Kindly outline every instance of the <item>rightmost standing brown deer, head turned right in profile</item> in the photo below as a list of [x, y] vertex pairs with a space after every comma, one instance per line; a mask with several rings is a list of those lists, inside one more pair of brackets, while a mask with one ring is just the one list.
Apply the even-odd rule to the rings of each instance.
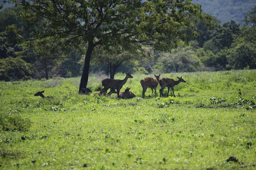
[[159, 90], [160, 92], [160, 97], [163, 97], [163, 89], [165, 89], [165, 87], [167, 86], [168, 87], [168, 92], [167, 92], [167, 97], [169, 95], [169, 90], [170, 90], [170, 87], [172, 88], [172, 92], [173, 92], [173, 96], [175, 97], [174, 95], [174, 90], [173, 90], [173, 87], [177, 84], [179, 84], [180, 82], [184, 82], [186, 83], [185, 80], [179, 77], [177, 77], [179, 80], [178, 81], [175, 81], [173, 79], [168, 79], [168, 78], [162, 78], [160, 81], [159, 81], [159, 84], [161, 86], [161, 89]]

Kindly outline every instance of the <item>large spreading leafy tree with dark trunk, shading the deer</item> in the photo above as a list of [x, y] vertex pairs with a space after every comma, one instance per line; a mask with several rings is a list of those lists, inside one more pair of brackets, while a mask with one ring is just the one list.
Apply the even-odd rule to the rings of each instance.
[[207, 25], [211, 24], [211, 16], [203, 14], [201, 5], [190, 0], [9, 1], [23, 6], [21, 17], [36, 26], [30, 34], [32, 39], [51, 38], [61, 42], [59, 46], [64, 49], [86, 47], [79, 92], [87, 86], [91, 54], [96, 46], [130, 53], [139, 50], [143, 54], [149, 49], [145, 46], [171, 51], [178, 41], [197, 35], [192, 20], [207, 19]]

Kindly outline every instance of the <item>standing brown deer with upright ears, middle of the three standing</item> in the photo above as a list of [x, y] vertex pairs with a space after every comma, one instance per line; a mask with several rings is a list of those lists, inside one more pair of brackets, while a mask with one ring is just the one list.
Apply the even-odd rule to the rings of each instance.
[[[155, 75], [155, 74], [154, 74]], [[157, 85], [158, 85], [158, 82], [159, 82], [159, 77], [160, 77], [161, 74], [159, 75], [155, 75], [156, 79], [153, 79], [151, 77], [146, 77], [146, 78], [143, 78], [141, 81], [140, 81], [140, 84], [143, 88], [142, 90], [142, 98], [145, 97], [145, 92], [147, 90], [147, 88], [151, 88], [152, 90], [152, 94], [153, 94], [153, 89], [155, 89], [155, 95], [156, 95], [156, 88], [157, 88]], [[152, 96], [151, 94], [151, 96]]]

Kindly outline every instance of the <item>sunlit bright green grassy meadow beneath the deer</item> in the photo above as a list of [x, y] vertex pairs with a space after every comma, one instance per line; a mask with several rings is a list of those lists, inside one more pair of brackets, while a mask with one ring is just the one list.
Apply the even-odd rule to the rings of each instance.
[[186, 83], [145, 99], [140, 80], [154, 74], [132, 75], [126, 100], [94, 97], [104, 75], [87, 96], [80, 78], [0, 82], [0, 169], [256, 168], [256, 70], [161, 73]]

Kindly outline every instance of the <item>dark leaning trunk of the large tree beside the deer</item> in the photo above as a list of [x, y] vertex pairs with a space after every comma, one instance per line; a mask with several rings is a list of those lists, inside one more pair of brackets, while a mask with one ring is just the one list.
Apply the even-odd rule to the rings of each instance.
[[83, 69], [83, 73], [82, 73], [82, 77], [81, 77], [81, 81], [80, 81], [79, 94], [86, 93], [85, 89], [86, 89], [87, 82], [88, 82], [91, 53], [93, 52], [94, 47], [95, 46], [93, 44], [93, 41], [89, 41], [85, 59], [84, 59], [84, 69]]

